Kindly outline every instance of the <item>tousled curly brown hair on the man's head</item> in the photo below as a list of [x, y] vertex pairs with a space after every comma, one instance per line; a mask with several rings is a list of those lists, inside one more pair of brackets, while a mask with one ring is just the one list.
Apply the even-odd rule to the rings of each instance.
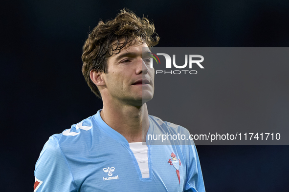
[[[153, 37], [154, 36], [154, 37]], [[108, 73], [107, 59], [118, 54], [121, 49], [133, 45], [136, 40], [155, 46], [159, 37], [155, 26], [148, 19], [137, 17], [132, 11], [121, 9], [115, 19], [107, 22], [99, 21], [89, 34], [83, 46], [82, 73], [91, 91], [101, 98], [97, 86], [90, 79], [90, 71]], [[120, 41], [123, 41], [120, 43]]]

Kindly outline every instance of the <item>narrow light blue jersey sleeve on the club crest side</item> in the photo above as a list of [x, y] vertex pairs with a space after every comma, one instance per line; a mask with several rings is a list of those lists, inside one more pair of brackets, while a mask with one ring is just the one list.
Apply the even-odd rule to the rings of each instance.
[[192, 142], [192, 145], [186, 146], [189, 150], [188, 155], [188, 170], [187, 179], [185, 184], [185, 192], [205, 192], [205, 186], [203, 176], [200, 168], [200, 160], [196, 146]]

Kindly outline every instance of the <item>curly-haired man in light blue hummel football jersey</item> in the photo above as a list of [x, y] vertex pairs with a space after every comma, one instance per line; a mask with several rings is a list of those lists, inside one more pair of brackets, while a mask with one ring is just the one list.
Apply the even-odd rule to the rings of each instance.
[[153, 24], [126, 10], [93, 29], [82, 71], [103, 109], [49, 138], [35, 166], [34, 191], [205, 191], [194, 145], [154, 145], [147, 137], [189, 135], [148, 115], [155, 73], [149, 48], [158, 40]]

